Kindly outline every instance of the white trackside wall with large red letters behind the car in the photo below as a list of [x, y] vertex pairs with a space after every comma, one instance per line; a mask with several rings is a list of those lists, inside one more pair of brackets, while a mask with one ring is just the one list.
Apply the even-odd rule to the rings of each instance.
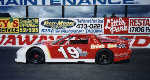
[[[56, 41], [66, 35], [0, 35], [0, 46], [13, 46], [21, 47], [26, 45], [33, 45], [43, 41]], [[131, 48], [150, 48], [150, 36], [149, 35], [102, 35], [108, 37], [123, 36], [130, 39]]]

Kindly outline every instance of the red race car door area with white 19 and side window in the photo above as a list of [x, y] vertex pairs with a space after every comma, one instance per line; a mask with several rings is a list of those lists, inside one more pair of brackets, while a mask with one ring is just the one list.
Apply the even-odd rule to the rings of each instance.
[[87, 59], [90, 57], [90, 45], [88, 37], [70, 37], [60, 43], [58, 52], [65, 59]]

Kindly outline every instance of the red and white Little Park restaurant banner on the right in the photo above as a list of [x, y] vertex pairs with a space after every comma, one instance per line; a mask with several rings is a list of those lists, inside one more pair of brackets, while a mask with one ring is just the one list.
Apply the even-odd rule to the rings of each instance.
[[104, 34], [150, 34], [150, 18], [105, 18]]

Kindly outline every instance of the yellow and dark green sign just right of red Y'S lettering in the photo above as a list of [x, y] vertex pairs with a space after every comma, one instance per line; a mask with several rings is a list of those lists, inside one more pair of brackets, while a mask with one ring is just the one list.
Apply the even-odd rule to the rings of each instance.
[[20, 18], [19, 33], [38, 33], [39, 19], [38, 18]]

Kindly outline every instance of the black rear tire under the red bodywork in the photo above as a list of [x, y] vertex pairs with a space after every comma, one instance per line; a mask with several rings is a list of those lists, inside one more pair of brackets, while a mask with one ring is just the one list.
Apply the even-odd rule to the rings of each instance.
[[95, 62], [100, 65], [113, 63], [113, 54], [110, 51], [100, 51], [96, 54]]

